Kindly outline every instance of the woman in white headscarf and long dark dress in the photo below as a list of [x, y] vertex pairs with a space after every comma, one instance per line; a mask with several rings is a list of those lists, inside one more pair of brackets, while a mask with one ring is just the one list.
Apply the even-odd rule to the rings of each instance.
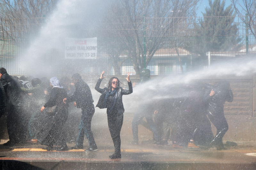
[[[60, 145], [57, 151], [67, 151], [66, 135], [64, 125], [68, 118], [68, 104], [63, 103], [67, 97], [66, 90], [60, 85], [57, 77], [50, 79], [50, 98], [41, 107], [41, 116], [38, 117], [38, 128], [35, 134], [36, 139], [46, 145], [47, 151], [53, 150], [53, 145]], [[45, 112], [44, 109], [48, 108]]]

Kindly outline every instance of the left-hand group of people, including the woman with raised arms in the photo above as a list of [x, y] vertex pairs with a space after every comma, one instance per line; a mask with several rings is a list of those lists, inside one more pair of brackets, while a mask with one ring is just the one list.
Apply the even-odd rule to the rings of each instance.
[[[9, 141], [4, 145], [10, 146], [21, 144], [31, 139], [46, 145], [47, 151], [52, 151], [55, 146], [60, 146], [57, 151], [69, 150], [66, 144], [64, 124], [68, 118], [68, 103], [74, 102], [75, 107], [81, 108], [82, 115], [79, 124], [76, 145], [71, 149], [83, 149], [84, 135], [86, 135], [89, 148], [86, 152], [96, 151], [91, 121], [95, 112], [92, 93], [89, 86], [84, 82], [81, 75], [73, 74], [72, 82], [75, 90], [68, 95], [65, 83], [60, 83], [57, 77], [52, 77], [47, 83], [45, 79], [34, 78], [29, 81], [10, 76], [5, 68], [0, 68], [0, 111], [6, 115]], [[129, 74], [128, 90], [120, 87], [120, 81], [116, 77], [110, 78], [108, 87], [100, 88], [104, 77], [104, 71], [95, 86], [95, 90], [101, 93], [96, 105], [99, 108], [107, 108], [108, 128], [113, 139], [115, 152], [110, 159], [121, 158], [120, 131], [123, 124], [124, 106], [122, 96], [132, 93], [132, 83]], [[29, 96], [33, 100], [29, 100]], [[44, 102], [43, 106], [42, 101]], [[31, 108], [37, 108], [31, 110]], [[41, 109], [40, 109], [41, 107]]]

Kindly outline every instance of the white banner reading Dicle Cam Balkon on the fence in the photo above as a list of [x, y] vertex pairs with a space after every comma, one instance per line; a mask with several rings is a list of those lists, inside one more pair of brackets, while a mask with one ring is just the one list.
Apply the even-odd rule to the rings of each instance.
[[65, 41], [66, 59], [96, 59], [97, 37], [68, 38]]

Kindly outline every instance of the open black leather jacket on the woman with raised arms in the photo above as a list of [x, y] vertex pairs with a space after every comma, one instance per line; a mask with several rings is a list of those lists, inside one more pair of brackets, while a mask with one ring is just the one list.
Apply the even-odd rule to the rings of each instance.
[[[97, 84], [95, 85], [95, 90], [97, 90], [97, 92], [101, 93], [100, 99], [99, 99], [96, 107], [104, 108], [105, 94], [108, 92], [109, 89], [107, 87], [105, 87], [104, 89], [101, 89], [100, 88], [101, 81], [102, 81], [102, 79], [99, 78]], [[124, 90], [122, 87], [118, 88], [116, 105], [115, 105], [115, 108], [117, 109], [118, 113], [124, 113], [124, 105], [123, 105], [122, 96], [132, 93], [132, 82], [128, 82], [128, 86], [129, 86], [129, 90]]]

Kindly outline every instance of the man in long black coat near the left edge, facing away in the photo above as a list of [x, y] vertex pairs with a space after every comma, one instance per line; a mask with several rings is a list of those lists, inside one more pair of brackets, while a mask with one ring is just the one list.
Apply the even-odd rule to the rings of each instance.
[[6, 96], [6, 123], [9, 141], [4, 145], [25, 143], [28, 135], [26, 115], [22, 108], [24, 93], [15, 78], [10, 76], [6, 69], [0, 68], [0, 81]]

